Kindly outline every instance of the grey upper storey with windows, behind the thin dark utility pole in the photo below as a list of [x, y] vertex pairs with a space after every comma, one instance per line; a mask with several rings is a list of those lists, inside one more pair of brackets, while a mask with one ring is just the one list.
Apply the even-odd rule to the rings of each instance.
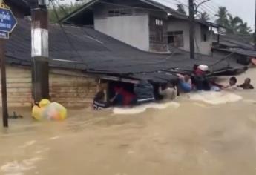
[[[186, 51], [190, 50], [189, 23], [187, 16], [168, 16], [168, 45]], [[212, 25], [195, 19], [194, 27], [195, 53], [211, 55], [213, 42]]]

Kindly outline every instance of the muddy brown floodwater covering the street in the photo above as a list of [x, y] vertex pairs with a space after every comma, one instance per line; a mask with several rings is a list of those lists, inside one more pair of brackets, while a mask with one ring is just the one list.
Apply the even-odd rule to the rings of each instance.
[[[247, 76], [256, 84], [256, 70]], [[256, 91], [195, 93], [134, 109], [26, 116], [0, 128], [3, 175], [255, 175]], [[13, 109], [10, 109], [10, 112]]]

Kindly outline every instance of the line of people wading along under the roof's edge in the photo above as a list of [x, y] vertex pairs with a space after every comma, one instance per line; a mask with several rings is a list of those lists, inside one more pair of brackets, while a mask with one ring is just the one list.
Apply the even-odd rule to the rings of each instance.
[[[180, 93], [190, 93], [196, 90], [208, 91], [221, 91], [226, 89], [243, 88], [254, 89], [251, 85], [251, 79], [245, 79], [242, 85], [237, 85], [237, 79], [233, 76], [229, 79], [229, 85], [218, 85], [213, 80], [206, 78], [208, 67], [200, 65], [194, 67], [194, 73], [189, 76], [188, 74], [177, 74], [176, 82], [167, 82], [163, 85], [157, 85], [157, 90], [147, 80], [141, 80], [138, 84], [134, 85], [133, 92], [125, 90], [124, 87], [114, 87], [114, 96], [106, 100], [106, 94], [103, 89], [96, 93], [93, 99], [93, 108], [100, 110], [108, 108], [112, 105], [118, 106], [131, 106], [141, 105], [148, 102], [154, 102], [156, 96], [163, 101], [174, 100]], [[156, 85], [155, 85], [156, 86]]]

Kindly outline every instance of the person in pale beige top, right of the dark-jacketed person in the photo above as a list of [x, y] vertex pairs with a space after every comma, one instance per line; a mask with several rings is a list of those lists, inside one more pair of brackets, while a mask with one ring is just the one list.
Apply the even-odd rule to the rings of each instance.
[[174, 100], [177, 96], [176, 87], [168, 82], [165, 87], [159, 87], [159, 94], [163, 96], [164, 101]]

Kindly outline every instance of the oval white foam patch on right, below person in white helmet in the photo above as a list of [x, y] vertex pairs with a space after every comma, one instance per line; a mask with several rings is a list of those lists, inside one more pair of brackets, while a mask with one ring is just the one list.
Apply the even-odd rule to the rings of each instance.
[[243, 99], [234, 93], [229, 92], [197, 92], [189, 94], [189, 98], [195, 101], [201, 101], [210, 105], [220, 105], [230, 102], [238, 102]]

